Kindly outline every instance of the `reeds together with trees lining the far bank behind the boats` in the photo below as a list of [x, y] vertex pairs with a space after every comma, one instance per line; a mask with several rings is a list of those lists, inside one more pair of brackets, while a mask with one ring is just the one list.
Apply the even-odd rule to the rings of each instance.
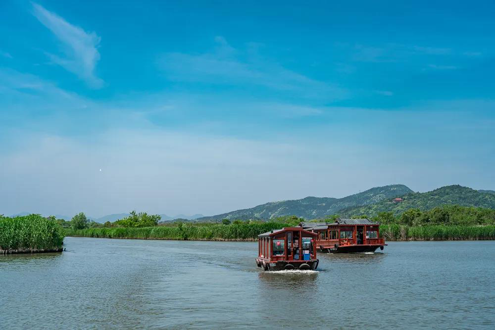
[[[313, 221], [334, 222], [338, 215]], [[361, 215], [360, 217], [366, 217]], [[149, 222], [146, 219], [152, 219]], [[396, 216], [380, 212], [373, 221], [381, 223], [381, 236], [387, 240], [461, 240], [495, 239], [495, 210], [442, 206], [428, 211], [409, 209]], [[182, 239], [182, 240], [255, 240], [261, 233], [283, 227], [297, 226], [303, 218], [284, 216], [263, 222], [259, 220], [230, 220], [207, 222], [158, 223], [155, 216], [131, 213], [131, 216], [104, 228], [69, 229], [67, 236]], [[149, 225], [148, 225], [149, 224]]]

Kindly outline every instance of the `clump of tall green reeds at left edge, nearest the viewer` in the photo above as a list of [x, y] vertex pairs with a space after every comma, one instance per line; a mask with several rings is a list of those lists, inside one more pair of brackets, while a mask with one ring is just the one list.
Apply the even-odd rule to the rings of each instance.
[[61, 248], [64, 236], [62, 226], [39, 214], [15, 218], [0, 216], [0, 250]]

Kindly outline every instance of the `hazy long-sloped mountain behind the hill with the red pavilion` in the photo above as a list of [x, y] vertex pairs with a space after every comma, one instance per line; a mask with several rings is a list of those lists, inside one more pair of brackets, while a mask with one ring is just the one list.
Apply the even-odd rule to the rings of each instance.
[[369, 205], [383, 199], [402, 196], [412, 190], [404, 185], [376, 187], [343, 198], [306, 197], [258, 205], [252, 208], [198, 218], [198, 221], [216, 221], [222, 219], [272, 219], [285, 215], [296, 215], [305, 219], [321, 218], [335, 214], [343, 208], [357, 205]]

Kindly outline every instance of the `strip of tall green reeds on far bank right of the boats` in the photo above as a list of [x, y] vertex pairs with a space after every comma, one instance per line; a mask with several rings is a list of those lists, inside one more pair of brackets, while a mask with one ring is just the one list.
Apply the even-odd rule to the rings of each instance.
[[469, 240], [495, 239], [495, 226], [403, 226], [381, 225], [385, 240]]

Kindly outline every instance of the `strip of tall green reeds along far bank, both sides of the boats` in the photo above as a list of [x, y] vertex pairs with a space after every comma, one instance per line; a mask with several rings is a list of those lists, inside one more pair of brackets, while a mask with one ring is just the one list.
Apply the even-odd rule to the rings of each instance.
[[[160, 226], [145, 228], [90, 228], [67, 230], [67, 236], [179, 240], [256, 240], [261, 233], [290, 227], [277, 222], [232, 225]], [[418, 226], [382, 225], [380, 233], [386, 240], [470, 240], [495, 239], [495, 226]]]

